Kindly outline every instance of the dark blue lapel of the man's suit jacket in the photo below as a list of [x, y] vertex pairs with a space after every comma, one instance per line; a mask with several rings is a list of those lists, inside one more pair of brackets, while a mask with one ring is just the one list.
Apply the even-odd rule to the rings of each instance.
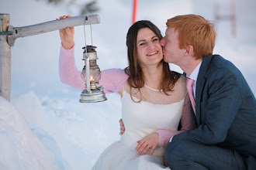
[[202, 64], [199, 69], [199, 75], [196, 80], [195, 87], [195, 112], [196, 112], [196, 124], [199, 126], [201, 124], [201, 99], [202, 99], [202, 90], [206, 82], [205, 74], [209, 68], [209, 63], [212, 60], [213, 55], [206, 56], [202, 59]]

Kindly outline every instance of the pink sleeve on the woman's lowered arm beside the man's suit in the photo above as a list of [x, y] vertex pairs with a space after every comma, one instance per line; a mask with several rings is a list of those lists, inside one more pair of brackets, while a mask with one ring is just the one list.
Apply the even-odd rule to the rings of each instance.
[[180, 134], [183, 131], [194, 128], [190, 111], [191, 111], [191, 107], [190, 107], [189, 97], [185, 97], [185, 102], [184, 102], [183, 111], [182, 111], [182, 118], [181, 118], [182, 130], [171, 131], [167, 129], [160, 129], [155, 131], [157, 134], [159, 134], [159, 141], [160, 141], [159, 145], [166, 147], [171, 137], [175, 136], [176, 134]]

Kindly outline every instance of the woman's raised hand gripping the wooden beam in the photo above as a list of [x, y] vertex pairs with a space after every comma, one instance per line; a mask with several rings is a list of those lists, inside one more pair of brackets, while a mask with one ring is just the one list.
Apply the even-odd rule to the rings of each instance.
[[[59, 19], [70, 18], [71, 15], [60, 16]], [[62, 46], [64, 49], [71, 49], [74, 46], [74, 27], [59, 29]]]

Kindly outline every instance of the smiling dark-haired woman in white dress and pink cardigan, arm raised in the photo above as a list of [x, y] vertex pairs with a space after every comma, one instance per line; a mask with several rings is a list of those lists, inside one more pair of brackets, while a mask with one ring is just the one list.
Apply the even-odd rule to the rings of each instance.
[[[84, 89], [74, 64], [74, 28], [61, 29], [60, 36], [61, 81]], [[172, 136], [192, 128], [185, 77], [164, 62], [161, 38], [153, 23], [134, 23], [126, 36], [129, 66], [102, 71], [99, 85], [106, 93], [121, 96], [126, 131], [102, 152], [92, 169], [169, 169], [164, 166], [165, 146]], [[182, 131], [178, 131], [180, 120]]]

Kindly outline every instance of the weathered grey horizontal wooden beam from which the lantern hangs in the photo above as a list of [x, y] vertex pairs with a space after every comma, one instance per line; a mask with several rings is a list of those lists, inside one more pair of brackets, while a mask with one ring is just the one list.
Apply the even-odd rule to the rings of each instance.
[[64, 29], [73, 26], [83, 26], [98, 24], [100, 22], [99, 15], [79, 15], [67, 19], [57, 19], [50, 22], [43, 22], [33, 26], [13, 27], [9, 26], [9, 31], [14, 32], [12, 36], [8, 36], [10, 46], [14, 46], [14, 42], [19, 37], [34, 36], [37, 34]]

